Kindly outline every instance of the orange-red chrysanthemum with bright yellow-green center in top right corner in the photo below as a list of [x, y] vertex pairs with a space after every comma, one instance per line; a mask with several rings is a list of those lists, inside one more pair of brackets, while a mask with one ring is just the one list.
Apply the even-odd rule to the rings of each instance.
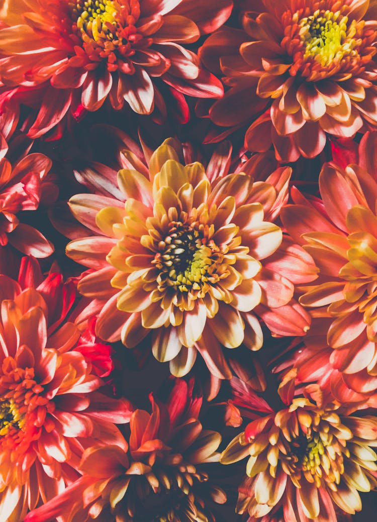
[[273, 144], [283, 161], [317, 156], [326, 134], [376, 125], [375, 0], [243, 4], [244, 31], [220, 29], [200, 53], [230, 87], [210, 110], [214, 123], [251, 123], [246, 146]]

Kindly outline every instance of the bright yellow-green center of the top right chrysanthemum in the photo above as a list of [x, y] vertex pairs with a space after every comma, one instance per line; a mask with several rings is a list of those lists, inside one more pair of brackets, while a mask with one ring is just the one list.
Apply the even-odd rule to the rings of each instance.
[[313, 57], [321, 66], [330, 65], [334, 60], [340, 61], [351, 55], [357, 41], [356, 22], [352, 20], [347, 27], [347, 16], [340, 15], [339, 11], [319, 10], [300, 20], [300, 36], [305, 44], [303, 58]]

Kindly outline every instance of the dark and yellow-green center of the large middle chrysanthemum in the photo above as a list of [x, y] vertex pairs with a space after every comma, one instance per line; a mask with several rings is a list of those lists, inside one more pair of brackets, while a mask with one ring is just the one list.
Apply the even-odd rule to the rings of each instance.
[[171, 223], [169, 235], [159, 243], [159, 248], [153, 263], [160, 270], [160, 281], [168, 287], [189, 292], [218, 280], [214, 274], [217, 246], [190, 225]]

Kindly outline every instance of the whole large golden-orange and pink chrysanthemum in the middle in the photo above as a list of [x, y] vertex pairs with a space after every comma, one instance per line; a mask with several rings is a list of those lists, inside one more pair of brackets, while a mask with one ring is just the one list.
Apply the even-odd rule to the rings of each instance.
[[170, 361], [174, 375], [189, 372], [199, 351], [214, 375], [229, 378], [221, 345], [262, 346], [257, 306], [275, 334], [305, 334], [309, 316], [292, 299], [287, 277], [312, 281], [316, 270], [264, 220], [278, 213], [290, 169], [271, 175], [278, 192], [244, 173], [216, 177], [218, 156], [206, 175], [198, 162], [182, 165], [181, 154], [166, 140], [147, 168], [126, 151], [132, 168], [118, 172], [119, 187], [110, 169], [105, 179], [84, 171], [107, 196], [70, 199], [74, 216], [96, 235], [69, 243], [67, 255], [93, 269], [78, 289], [101, 310], [102, 339], [132, 348], [151, 332], [155, 358]]

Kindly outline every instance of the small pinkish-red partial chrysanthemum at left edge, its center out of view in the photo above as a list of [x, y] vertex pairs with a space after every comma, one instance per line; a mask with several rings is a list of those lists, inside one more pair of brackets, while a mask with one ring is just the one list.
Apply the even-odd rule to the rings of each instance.
[[51, 165], [52, 161], [38, 152], [13, 166], [6, 158], [0, 159], [0, 248], [9, 243], [35, 257], [54, 252], [52, 243], [39, 230], [17, 218], [21, 210], [37, 210], [41, 199], [56, 199], [57, 187], [48, 180]]

